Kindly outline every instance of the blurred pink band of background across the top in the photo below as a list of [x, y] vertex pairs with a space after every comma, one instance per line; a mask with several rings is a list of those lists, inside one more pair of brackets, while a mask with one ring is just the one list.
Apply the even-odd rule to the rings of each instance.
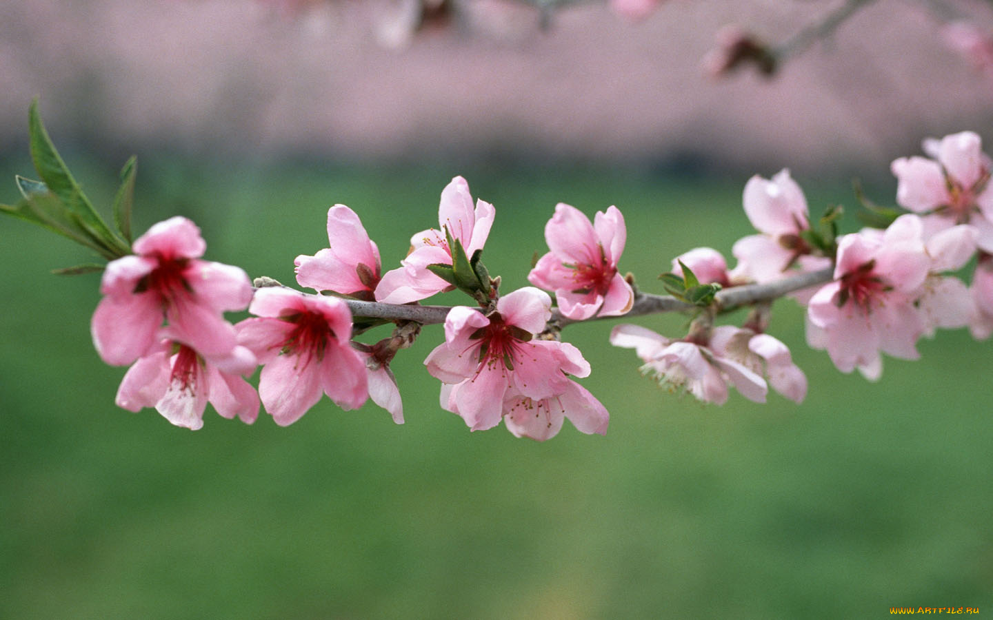
[[[949, 4], [993, 23], [989, 3]], [[775, 42], [838, 5], [669, 0], [636, 23], [591, 3], [541, 30], [522, 3], [464, 0], [447, 28], [405, 41], [385, 1], [13, 0], [0, 144], [23, 146], [35, 95], [54, 134], [125, 150], [690, 156], [769, 172], [887, 166], [962, 129], [993, 140], [989, 77], [920, 3], [869, 5], [774, 79], [701, 68], [725, 24]]]

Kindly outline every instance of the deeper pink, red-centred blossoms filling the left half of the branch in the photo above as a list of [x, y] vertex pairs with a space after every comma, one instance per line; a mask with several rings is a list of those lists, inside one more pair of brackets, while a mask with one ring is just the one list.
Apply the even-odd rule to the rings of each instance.
[[[389, 363], [419, 326], [396, 321], [391, 337], [354, 342], [346, 299], [412, 304], [456, 288], [460, 259], [474, 256], [479, 264], [495, 215], [492, 204], [473, 203], [464, 179], [454, 179], [441, 194], [439, 227], [413, 235], [401, 266], [382, 273], [379, 250], [358, 216], [337, 204], [328, 211], [329, 247], [295, 260], [297, 283], [318, 295], [282, 286], [253, 289], [240, 269], [200, 259], [206, 244], [193, 222], [160, 222], [134, 242], [134, 255], [107, 265], [105, 297], [93, 314], [100, 357], [133, 363], [117, 404], [132, 411], [154, 407], [177, 426], [199, 429], [208, 402], [222, 416], [247, 423], [261, 402], [286, 426], [326, 394], [343, 409], [371, 398], [403, 424]], [[591, 224], [560, 204], [546, 237], [552, 251], [530, 279], [559, 292], [565, 315], [582, 319], [632, 307], [634, 291], [617, 273], [626, 231], [616, 207]], [[466, 290], [464, 281], [456, 282]], [[570, 378], [588, 376], [590, 364], [576, 347], [543, 336], [551, 318], [548, 294], [526, 287], [500, 296], [498, 280], [488, 275], [475, 285], [467, 292], [478, 307], [449, 310], [445, 342], [425, 360], [442, 381], [442, 407], [474, 431], [505, 420], [511, 433], [543, 440], [569, 418], [583, 433], [606, 433], [607, 410]], [[233, 325], [223, 318], [237, 310], [254, 316]], [[256, 393], [243, 377], [258, 365]]]

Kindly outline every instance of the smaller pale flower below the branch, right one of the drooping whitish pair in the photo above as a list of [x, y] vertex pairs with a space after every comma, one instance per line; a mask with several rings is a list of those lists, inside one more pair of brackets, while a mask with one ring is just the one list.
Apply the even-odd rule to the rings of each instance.
[[778, 338], [734, 325], [721, 325], [714, 327], [711, 333], [710, 348], [721, 357], [765, 376], [774, 390], [794, 403], [802, 403], [806, 397], [806, 375], [793, 363], [789, 349]]

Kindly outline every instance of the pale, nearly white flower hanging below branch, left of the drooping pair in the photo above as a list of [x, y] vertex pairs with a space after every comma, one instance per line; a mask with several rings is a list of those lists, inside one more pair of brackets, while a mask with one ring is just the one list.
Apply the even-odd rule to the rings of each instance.
[[723, 405], [731, 383], [750, 401], [766, 402], [769, 387], [765, 379], [706, 344], [671, 340], [651, 329], [629, 324], [611, 330], [611, 344], [635, 349], [644, 361], [641, 372], [654, 375], [670, 391], [685, 389], [703, 402]]

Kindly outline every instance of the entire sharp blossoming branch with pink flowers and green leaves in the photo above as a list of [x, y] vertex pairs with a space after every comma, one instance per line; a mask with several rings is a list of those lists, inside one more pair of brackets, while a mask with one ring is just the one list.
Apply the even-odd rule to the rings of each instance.
[[[887, 217], [883, 227], [843, 236], [838, 209], [811, 222], [787, 171], [754, 177], [743, 203], [758, 234], [734, 244], [735, 268], [717, 250], [692, 249], [660, 276], [671, 294], [663, 297], [637, 292], [634, 277], [619, 272], [627, 227], [616, 206], [591, 221], [564, 203], [545, 225], [549, 251], [527, 275], [534, 286], [501, 295], [500, 278], [482, 262], [496, 209], [474, 202], [459, 177], [441, 193], [438, 228], [414, 234], [396, 269], [383, 273], [358, 216], [336, 204], [328, 211], [329, 247], [295, 260], [297, 283], [315, 293], [264, 278], [253, 287], [241, 269], [202, 259], [206, 243], [184, 217], [155, 224], [128, 247], [133, 169], [115, 199], [116, 236], [65, 170], [35, 108], [32, 131], [33, 156], [49, 164], [39, 167], [43, 181], [19, 179], [24, 199], [0, 210], [58, 225], [113, 259], [91, 332], [106, 363], [130, 365], [116, 403], [153, 407], [189, 429], [203, 426], [208, 403], [249, 424], [264, 407], [276, 424], [290, 425], [322, 394], [343, 409], [371, 399], [403, 424], [390, 362], [428, 323], [444, 323], [444, 342], [424, 360], [441, 382], [441, 407], [473, 431], [502, 421], [510, 433], [537, 440], [558, 434], [566, 418], [584, 434], [607, 431], [607, 410], [575, 380], [589, 376], [590, 363], [560, 339], [574, 321], [692, 311], [681, 338], [619, 324], [610, 341], [635, 349], [642, 372], [663, 386], [718, 404], [731, 386], [760, 403], [770, 387], [804, 399], [805, 375], [766, 333], [771, 304], [783, 295], [805, 307], [810, 346], [826, 349], [842, 372], [857, 369], [870, 380], [882, 373], [883, 353], [916, 359], [918, 340], [938, 327], [968, 326], [976, 338], [993, 333], [993, 162], [971, 132], [927, 140], [928, 157], [893, 162], [896, 201], [907, 212], [877, 209]], [[966, 285], [953, 274], [973, 260]], [[474, 304], [419, 305], [452, 290]], [[741, 325], [715, 324], [742, 306], [752, 311]], [[252, 316], [236, 324], [224, 318], [242, 310]], [[384, 323], [393, 324], [388, 337], [353, 339]], [[256, 390], [246, 377], [259, 366]]]

